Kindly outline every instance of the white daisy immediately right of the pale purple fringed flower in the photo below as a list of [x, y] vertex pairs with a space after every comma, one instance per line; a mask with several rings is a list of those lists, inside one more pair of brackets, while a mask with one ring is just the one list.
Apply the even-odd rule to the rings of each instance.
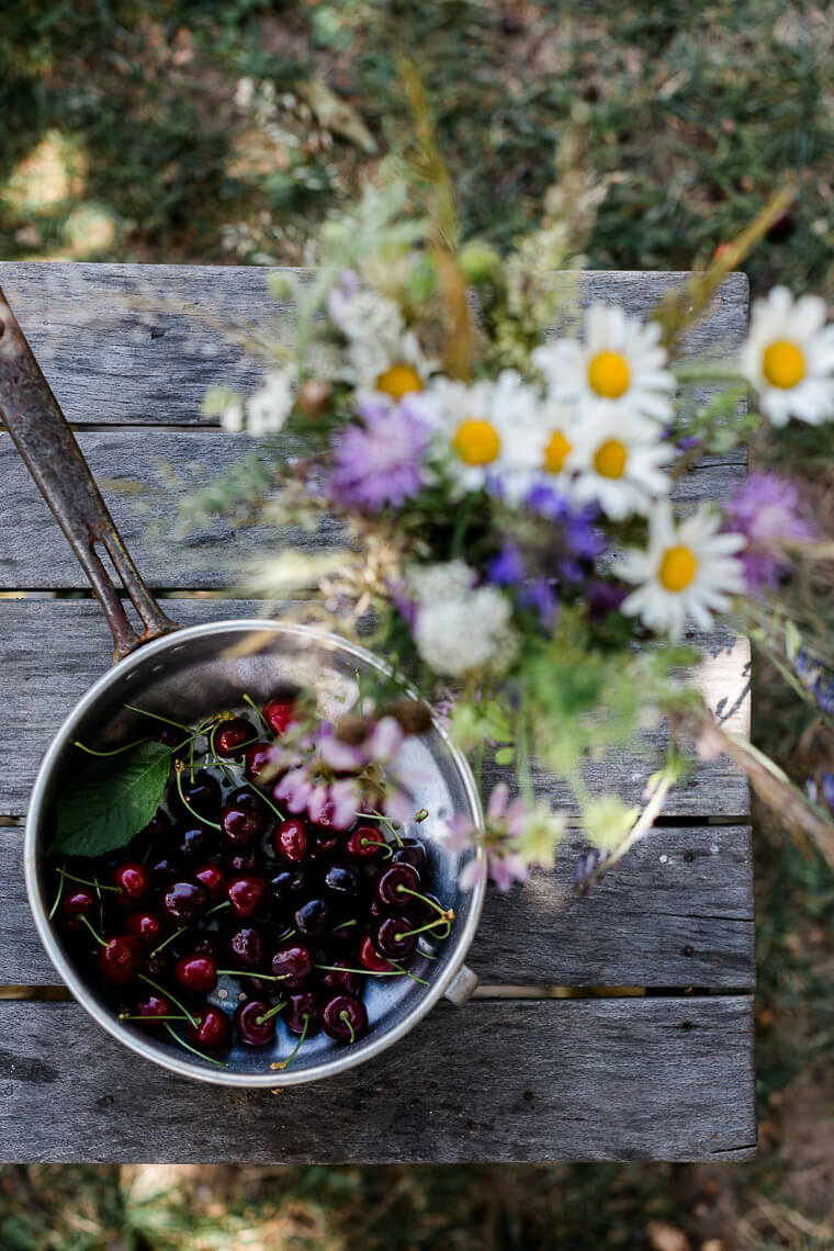
[[436, 455], [446, 462], [460, 492], [500, 483], [516, 498], [540, 460], [540, 402], [514, 369], [495, 382], [468, 385], [438, 378], [429, 388], [436, 403]]

